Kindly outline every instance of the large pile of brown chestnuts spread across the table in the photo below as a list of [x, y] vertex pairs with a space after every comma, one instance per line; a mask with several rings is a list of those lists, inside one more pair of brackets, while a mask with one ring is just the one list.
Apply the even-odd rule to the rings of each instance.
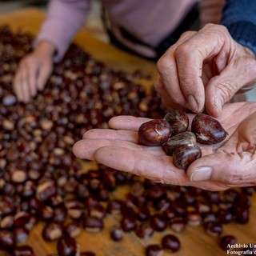
[[[108, 230], [115, 245], [134, 233], [146, 241], [146, 256], [182, 250], [179, 238], [186, 226], [203, 226], [223, 250], [235, 243], [234, 236], [223, 236], [224, 225], [249, 222], [253, 186], [220, 193], [158, 184], [102, 165], [85, 170], [74, 158], [74, 142], [86, 130], [106, 127], [114, 115], [164, 119], [158, 94], [146, 94], [135, 82], [150, 77], [109, 68], [71, 45], [46, 88], [23, 104], [12, 81], [33, 39], [22, 30], [14, 34], [0, 27], [0, 249], [12, 256], [38, 255], [30, 232], [40, 223], [43, 241], [55, 246], [47, 256], [95, 256], [97, 246], [92, 251], [77, 238], [106, 230], [110, 215], [117, 220]], [[178, 130], [186, 126], [183, 119], [172, 127], [171, 138], [186, 132]], [[126, 191], [122, 198], [120, 188]], [[155, 233], [162, 234], [158, 243], [150, 240]]]

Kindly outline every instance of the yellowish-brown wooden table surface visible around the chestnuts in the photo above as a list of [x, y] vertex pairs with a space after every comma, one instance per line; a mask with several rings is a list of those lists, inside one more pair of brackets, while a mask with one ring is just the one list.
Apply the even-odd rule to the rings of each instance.
[[[13, 30], [22, 28], [24, 31], [30, 31], [37, 34], [40, 24], [44, 19], [44, 14], [36, 9], [26, 9], [10, 14], [0, 16], [0, 24], [8, 24]], [[74, 42], [82, 46], [86, 51], [98, 59], [126, 72], [134, 70], [144, 70], [146, 74], [152, 74], [156, 77], [155, 65], [152, 62], [126, 54], [100, 42], [86, 31], [81, 31]], [[225, 226], [225, 234], [234, 234], [238, 238], [238, 244], [254, 243], [256, 245], [256, 203], [255, 196], [250, 210], [250, 222], [246, 225], [232, 223]], [[154, 242], [160, 242], [163, 234], [173, 234], [173, 231], [166, 230], [162, 233], [153, 235], [148, 240], [138, 239], [135, 234], [126, 234], [122, 242], [112, 242], [109, 236], [109, 227], [118, 223], [117, 219], [109, 216], [105, 220], [106, 228], [98, 234], [83, 232], [78, 238], [82, 250], [93, 250], [98, 256], [141, 256], [144, 255], [145, 246]], [[37, 256], [45, 256], [50, 253], [56, 253], [56, 242], [44, 242], [41, 238], [42, 225], [36, 226], [30, 234], [27, 242], [34, 247]], [[174, 255], [177, 256], [222, 256], [226, 251], [219, 249], [216, 238], [205, 234], [202, 226], [188, 226], [180, 234], [176, 234], [182, 242], [182, 249]], [[167, 253], [164, 256], [168, 255]]]

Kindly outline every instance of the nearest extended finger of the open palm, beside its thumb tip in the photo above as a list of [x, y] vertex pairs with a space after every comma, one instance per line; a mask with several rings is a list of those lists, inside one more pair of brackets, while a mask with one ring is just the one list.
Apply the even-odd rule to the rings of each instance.
[[185, 172], [175, 167], [171, 158], [167, 156], [159, 158], [142, 150], [106, 146], [95, 152], [95, 159], [116, 170], [140, 175], [156, 182], [174, 185], [186, 185], [189, 182]]

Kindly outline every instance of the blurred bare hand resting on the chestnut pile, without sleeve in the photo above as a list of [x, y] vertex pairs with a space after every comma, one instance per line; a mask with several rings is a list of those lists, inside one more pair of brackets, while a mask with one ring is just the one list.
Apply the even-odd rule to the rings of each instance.
[[27, 103], [43, 90], [53, 70], [53, 53], [54, 47], [44, 42], [22, 58], [13, 83], [18, 101]]

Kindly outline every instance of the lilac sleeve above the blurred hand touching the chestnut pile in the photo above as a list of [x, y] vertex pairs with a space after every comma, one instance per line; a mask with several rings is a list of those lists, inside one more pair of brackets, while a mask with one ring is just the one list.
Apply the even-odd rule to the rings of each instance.
[[57, 49], [54, 62], [59, 62], [81, 29], [89, 10], [90, 0], [51, 0], [34, 46], [41, 41], [53, 43]]

